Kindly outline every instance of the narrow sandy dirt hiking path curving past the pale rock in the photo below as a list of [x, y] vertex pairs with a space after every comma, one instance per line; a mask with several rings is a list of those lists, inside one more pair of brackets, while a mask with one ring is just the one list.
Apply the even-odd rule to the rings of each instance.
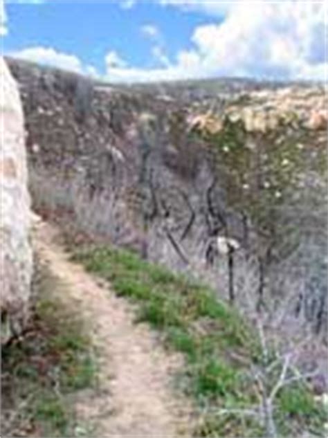
[[77, 403], [78, 419], [93, 423], [102, 437], [185, 435], [187, 408], [170, 388], [181, 359], [165, 352], [147, 325], [135, 325], [130, 304], [71, 262], [57, 237], [40, 222], [35, 248], [66, 286], [60, 298], [88, 327], [100, 367], [97, 394]]

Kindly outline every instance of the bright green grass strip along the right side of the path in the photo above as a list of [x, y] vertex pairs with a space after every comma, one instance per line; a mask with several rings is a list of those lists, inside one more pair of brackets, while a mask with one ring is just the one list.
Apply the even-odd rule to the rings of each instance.
[[[79, 250], [74, 259], [138, 304], [138, 321], [148, 322], [161, 332], [167, 347], [184, 355], [179, 385], [198, 412], [195, 436], [266, 435], [260, 394], [250, 372], [253, 365], [261, 365], [261, 343], [235, 309], [217, 300], [207, 286], [125, 250]], [[273, 377], [279, 377], [275, 373]], [[276, 381], [264, 383], [274, 387]], [[300, 436], [304, 430], [323, 436], [325, 412], [299, 382], [282, 387], [273, 412], [279, 436]]]

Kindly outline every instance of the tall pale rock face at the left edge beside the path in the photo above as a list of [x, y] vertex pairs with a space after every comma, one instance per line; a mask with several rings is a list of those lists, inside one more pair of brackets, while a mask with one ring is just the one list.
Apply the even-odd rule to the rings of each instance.
[[24, 119], [17, 84], [0, 58], [1, 344], [24, 328], [33, 271]]

